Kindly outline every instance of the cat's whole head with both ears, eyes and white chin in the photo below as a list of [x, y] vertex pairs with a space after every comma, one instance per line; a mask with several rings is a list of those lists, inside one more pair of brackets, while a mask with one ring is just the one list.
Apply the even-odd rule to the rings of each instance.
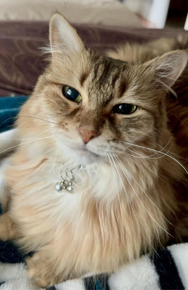
[[58, 150], [85, 164], [130, 144], [158, 142], [166, 128], [165, 92], [186, 65], [184, 51], [144, 64], [99, 56], [58, 13], [50, 21], [50, 44], [50, 65], [34, 94]]

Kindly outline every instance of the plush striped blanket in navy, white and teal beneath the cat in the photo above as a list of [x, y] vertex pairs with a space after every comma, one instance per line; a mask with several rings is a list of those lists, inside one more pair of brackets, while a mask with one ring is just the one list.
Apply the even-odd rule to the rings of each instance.
[[[10, 118], [6, 126], [0, 126], [0, 130], [5, 131], [12, 126], [19, 106], [27, 97], [2, 99], [0, 98], [0, 125], [4, 125]], [[9, 114], [6, 115], [6, 112]], [[1, 201], [4, 187], [1, 176], [3, 153], [7, 152], [8, 148], [16, 146], [16, 141], [12, 140], [15, 136], [16, 129], [0, 134]], [[0, 241], [0, 290], [2, 289], [41, 289], [28, 278], [25, 256], [11, 241]], [[112, 274], [88, 274], [48, 289], [188, 289], [188, 243], [159, 248], [153, 255], [144, 255]]]

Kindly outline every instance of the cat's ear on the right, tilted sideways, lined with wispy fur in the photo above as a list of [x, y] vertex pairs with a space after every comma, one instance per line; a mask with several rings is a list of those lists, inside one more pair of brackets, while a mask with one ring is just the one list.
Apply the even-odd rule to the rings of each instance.
[[169, 88], [179, 78], [186, 67], [188, 55], [186, 51], [171, 51], [149, 61], [146, 65], [153, 71], [155, 82]]

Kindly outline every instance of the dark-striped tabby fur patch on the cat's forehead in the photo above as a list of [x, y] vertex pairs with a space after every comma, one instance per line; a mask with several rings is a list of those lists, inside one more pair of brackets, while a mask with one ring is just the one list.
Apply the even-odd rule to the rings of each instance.
[[107, 56], [91, 55], [90, 68], [80, 78], [82, 86], [87, 86], [88, 97], [97, 93], [97, 100], [107, 101], [112, 97], [121, 97], [127, 85], [128, 63]]

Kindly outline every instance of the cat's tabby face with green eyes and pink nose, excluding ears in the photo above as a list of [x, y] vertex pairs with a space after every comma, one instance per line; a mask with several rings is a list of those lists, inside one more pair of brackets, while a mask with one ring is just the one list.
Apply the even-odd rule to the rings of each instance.
[[125, 147], [121, 141], [153, 138], [158, 103], [150, 111], [148, 92], [143, 88], [139, 93], [134, 82], [131, 84], [131, 66], [89, 52], [84, 58], [85, 69], [74, 58], [70, 65], [62, 60], [58, 70], [53, 65], [49, 69], [44, 94], [49, 115], [59, 123], [53, 124], [54, 133], [59, 133], [58, 144], [87, 163], [117, 154]]

